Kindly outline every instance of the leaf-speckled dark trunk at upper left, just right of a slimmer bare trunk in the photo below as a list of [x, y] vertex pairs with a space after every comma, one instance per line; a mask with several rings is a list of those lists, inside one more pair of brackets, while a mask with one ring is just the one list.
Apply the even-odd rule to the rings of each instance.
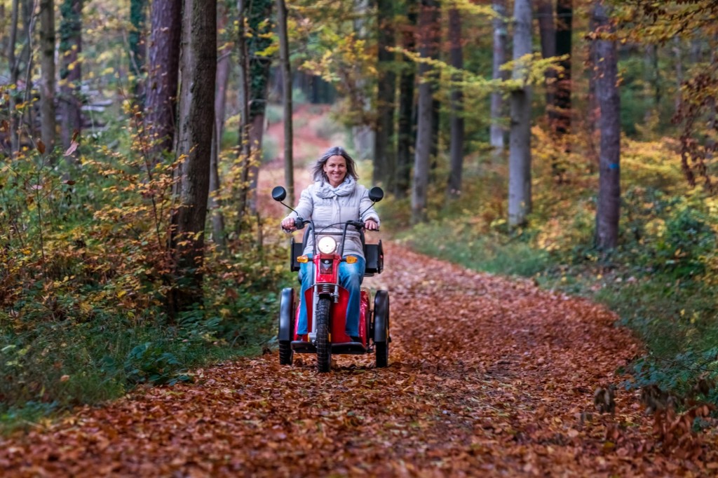
[[63, 0], [60, 11], [60, 139], [62, 149], [67, 149], [75, 131], [79, 133], [83, 125], [83, 101], [80, 93], [83, 0]]

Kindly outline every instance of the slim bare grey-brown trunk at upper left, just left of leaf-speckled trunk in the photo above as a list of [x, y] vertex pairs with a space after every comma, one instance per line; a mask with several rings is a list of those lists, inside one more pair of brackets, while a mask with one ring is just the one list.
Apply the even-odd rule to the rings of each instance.
[[[55, 148], [55, 1], [40, 1], [40, 126], [46, 151]], [[51, 159], [52, 160], [52, 159]]]

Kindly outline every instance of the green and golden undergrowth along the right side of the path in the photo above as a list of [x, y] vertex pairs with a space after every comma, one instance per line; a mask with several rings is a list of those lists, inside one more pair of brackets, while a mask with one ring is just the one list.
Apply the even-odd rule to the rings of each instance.
[[[539, 157], [549, 159], [551, 145], [542, 142], [541, 131], [534, 135]], [[620, 245], [597, 250], [597, 177], [581, 153], [564, 156], [560, 184], [549, 161], [538, 163], [525, 228], [508, 231], [505, 187], [493, 183], [500, 174], [488, 161], [477, 161], [460, 200], [445, 200], [437, 185], [433, 219], [398, 233], [398, 240], [468, 268], [531, 277], [546, 289], [607, 305], [645, 344], [645, 355], [625, 370], [625, 386], [655, 385], [677, 400], [718, 405], [718, 201], [686, 187], [670, 140], [625, 141]], [[393, 200], [383, 208], [391, 215], [383, 221], [406, 220], [408, 206]]]

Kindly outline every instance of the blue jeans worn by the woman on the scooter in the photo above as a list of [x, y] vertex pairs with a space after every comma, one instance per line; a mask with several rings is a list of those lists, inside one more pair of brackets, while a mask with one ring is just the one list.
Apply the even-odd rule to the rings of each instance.
[[[311, 254], [307, 254], [307, 256], [309, 256], [309, 262], [302, 263], [299, 268], [299, 281], [302, 281], [302, 290], [299, 294], [299, 324], [297, 324], [297, 334], [299, 335], [307, 333], [307, 307], [304, 304], [304, 293], [312, 287], [312, 282], [314, 282], [314, 262], [311, 261]], [[349, 336], [359, 335], [359, 302], [366, 264], [364, 258], [359, 256], [356, 258], [357, 261], [353, 264], [339, 263], [339, 285], [349, 292], [345, 325], [345, 332]], [[309, 304], [309, 307], [311, 306], [312, 304]]]

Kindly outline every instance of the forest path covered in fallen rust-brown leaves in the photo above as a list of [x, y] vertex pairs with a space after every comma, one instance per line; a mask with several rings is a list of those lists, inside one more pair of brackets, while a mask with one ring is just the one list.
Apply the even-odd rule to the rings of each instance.
[[320, 375], [312, 355], [280, 366], [273, 352], [195, 370], [194, 383], [138, 388], [0, 439], [0, 475], [718, 472], [717, 436], [656, 421], [638, 393], [618, 388], [615, 411], [597, 411], [595, 390], [618, 385], [616, 370], [641, 352], [610, 311], [391, 241], [385, 250], [384, 273], [365, 286], [391, 296], [387, 368], [337, 356]]

